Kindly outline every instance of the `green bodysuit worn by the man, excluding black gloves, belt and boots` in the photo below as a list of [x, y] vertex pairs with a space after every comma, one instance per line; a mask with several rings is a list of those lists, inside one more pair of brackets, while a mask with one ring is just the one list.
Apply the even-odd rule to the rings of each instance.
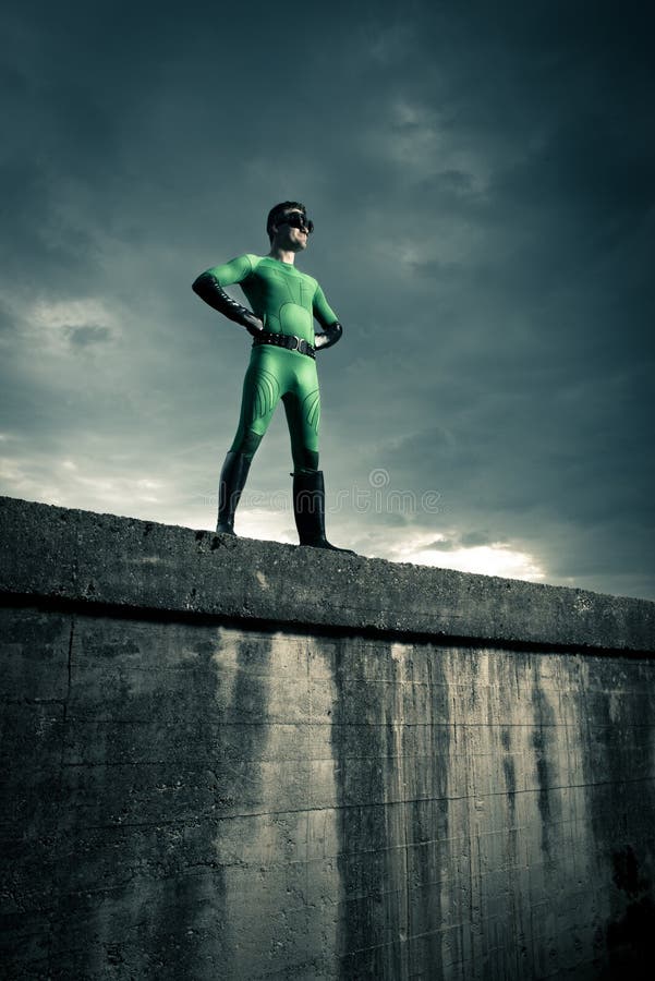
[[[247, 254], [207, 274], [221, 287], [239, 283], [264, 329], [272, 334], [295, 335], [314, 344], [314, 317], [324, 328], [338, 320], [317, 281], [289, 263]], [[287, 348], [253, 347], [230, 450], [252, 460], [280, 399], [295, 473], [317, 470], [320, 397], [316, 362]]]

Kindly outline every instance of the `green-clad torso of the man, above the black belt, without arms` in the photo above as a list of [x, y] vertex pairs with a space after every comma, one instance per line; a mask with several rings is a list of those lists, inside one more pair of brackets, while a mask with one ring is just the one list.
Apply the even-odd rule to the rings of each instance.
[[253, 312], [274, 334], [295, 334], [314, 342], [313, 302], [317, 282], [295, 266], [248, 255], [252, 272], [242, 282]]

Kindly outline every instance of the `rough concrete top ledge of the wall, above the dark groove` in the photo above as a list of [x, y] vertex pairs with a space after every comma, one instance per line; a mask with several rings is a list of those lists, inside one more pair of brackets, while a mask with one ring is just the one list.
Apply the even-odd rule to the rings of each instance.
[[655, 603], [217, 536], [0, 498], [0, 592], [407, 632], [648, 651]]

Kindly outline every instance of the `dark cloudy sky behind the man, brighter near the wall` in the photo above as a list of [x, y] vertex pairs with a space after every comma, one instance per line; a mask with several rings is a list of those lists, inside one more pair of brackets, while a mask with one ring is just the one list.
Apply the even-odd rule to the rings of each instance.
[[[648, 8], [5, 2], [0, 493], [213, 528], [250, 338], [191, 282], [294, 198], [331, 540], [655, 598]], [[280, 408], [242, 534], [290, 463]]]

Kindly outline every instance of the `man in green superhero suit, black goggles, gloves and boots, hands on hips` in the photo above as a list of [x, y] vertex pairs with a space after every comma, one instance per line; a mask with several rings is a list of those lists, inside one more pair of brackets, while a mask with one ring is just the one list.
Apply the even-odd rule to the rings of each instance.
[[[241, 255], [202, 272], [194, 291], [209, 306], [253, 336], [243, 383], [236, 435], [226, 457], [219, 484], [220, 534], [234, 534], [234, 512], [253, 457], [281, 399], [293, 458], [293, 513], [300, 544], [336, 548], [325, 536], [325, 486], [318, 470], [320, 395], [316, 352], [330, 348], [343, 328], [315, 279], [295, 268], [307, 247], [314, 222], [303, 204], [286, 201], [271, 208], [266, 222], [268, 255]], [[223, 287], [239, 283], [252, 306], [232, 300]], [[322, 330], [314, 330], [314, 319]]]

